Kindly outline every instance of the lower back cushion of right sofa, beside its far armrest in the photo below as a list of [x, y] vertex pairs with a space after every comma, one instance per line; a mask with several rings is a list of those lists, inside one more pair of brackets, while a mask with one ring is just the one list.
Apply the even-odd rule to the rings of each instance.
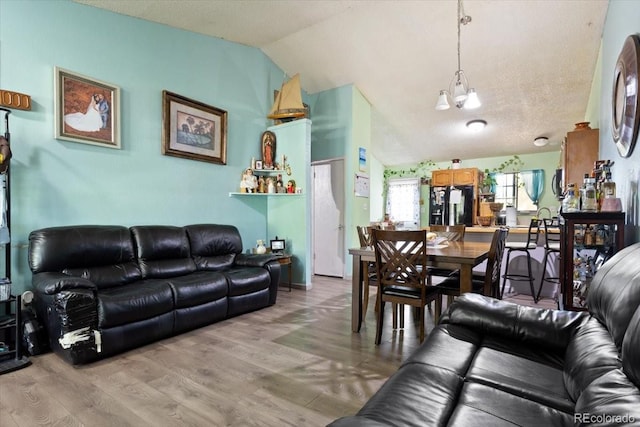
[[563, 374], [567, 392], [575, 401], [594, 379], [620, 366], [611, 335], [592, 317], [577, 328], [567, 346]]

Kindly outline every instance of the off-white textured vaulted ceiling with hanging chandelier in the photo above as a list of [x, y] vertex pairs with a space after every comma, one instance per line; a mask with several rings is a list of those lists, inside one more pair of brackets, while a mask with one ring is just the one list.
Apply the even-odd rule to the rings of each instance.
[[[452, 0], [76, 1], [258, 47], [300, 73], [310, 94], [355, 85], [372, 105], [372, 151], [385, 165], [558, 150], [584, 119], [608, 5], [466, 1], [462, 69], [482, 106], [436, 111], [457, 68]], [[469, 132], [472, 119], [487, 128]], [[535, 147], [537, 136], [550, 144]]]

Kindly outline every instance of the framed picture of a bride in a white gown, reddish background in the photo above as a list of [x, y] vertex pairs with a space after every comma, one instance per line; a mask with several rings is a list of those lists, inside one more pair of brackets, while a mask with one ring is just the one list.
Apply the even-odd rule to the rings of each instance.
[[55, 137], [120, 148], [120, 88], [54, 67]]

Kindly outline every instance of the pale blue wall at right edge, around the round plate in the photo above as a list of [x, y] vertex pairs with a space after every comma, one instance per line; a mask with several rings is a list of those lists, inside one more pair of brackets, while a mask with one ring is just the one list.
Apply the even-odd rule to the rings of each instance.
[[613, 71], [627, 36], [640, 34], [640, 2], [615, 0], [609, 2], [602, 34], [602, 85], [600, 88], [600, 158], [615, 161], [611, 170], [616, 182], [616, 194], [627, 213], [625, 240], [640, 241], [640, 137], [630, 157], [622, 158], [613, 143], [611, 133], [611, 97]]

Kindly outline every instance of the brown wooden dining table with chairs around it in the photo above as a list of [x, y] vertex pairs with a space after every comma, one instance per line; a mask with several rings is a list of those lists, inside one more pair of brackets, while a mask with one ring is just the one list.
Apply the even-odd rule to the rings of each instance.
[[[460, 270], [460, 293], [471, 292], [473, 267], [487, 259], [489, 242], [448, 242], [443, 246], [427, 247], [427, 265]], [[360, 332], [362, 325], [362, 288], [364, 284], [363, 263], [375, 262], [372, 247], [351, 248], [349, 254], [353, 256], [351, 276], [351, 330]], [[491, 290], [485, 289], [485, 295]]]

